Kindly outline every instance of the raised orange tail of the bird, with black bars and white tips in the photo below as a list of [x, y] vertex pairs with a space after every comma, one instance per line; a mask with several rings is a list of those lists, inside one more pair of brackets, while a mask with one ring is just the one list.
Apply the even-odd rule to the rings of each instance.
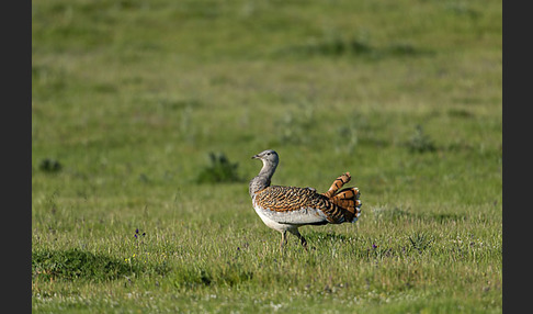
[[344, 221], [354, 223], [361, 215], [361, 192], [358, 188], [345, 188], [339, 190], [350, 180], [350, 172], [345, 172], [344, 175], [338, 177], [329, 190], [322, 194], [330, 199], [333, 204], [340, 208]]

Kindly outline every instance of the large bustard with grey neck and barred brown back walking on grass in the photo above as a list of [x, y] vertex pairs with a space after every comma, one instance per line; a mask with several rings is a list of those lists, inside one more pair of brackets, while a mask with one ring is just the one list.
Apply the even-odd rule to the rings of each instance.
[[318, 193], [314, 188], [271, 186], [272, 176], [280, 162], [275, 150], [266, 149], [252, 156], [263, 164], [259, 175], [250, 180], [249, 193], [253, 209], [263, 223], [281, 233], [280, 248], [287, 244], [287, 232], [298, 237], [307, 250], [307, 240], [298, 232], [305, 225], [355, 223], [361, 215], [359, 188], [344, 188], [350, 172], [334, 179], [328, 191]]

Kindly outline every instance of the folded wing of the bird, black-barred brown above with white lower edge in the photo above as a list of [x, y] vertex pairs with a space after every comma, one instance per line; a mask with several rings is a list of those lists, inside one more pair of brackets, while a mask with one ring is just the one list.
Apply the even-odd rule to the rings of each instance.
[[310, 188], [271, 186], [254, 194], [253, 205], [263, 215], [281, 224], [344, 222], [338, 206]]

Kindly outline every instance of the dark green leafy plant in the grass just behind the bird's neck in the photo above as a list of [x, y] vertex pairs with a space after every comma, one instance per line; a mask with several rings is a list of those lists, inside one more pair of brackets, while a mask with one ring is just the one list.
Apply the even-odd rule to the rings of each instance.
[[200, 171], [196, 182], [220, 183], [240, 182], [242, 179], [237, 173], [238, 164], [230, 162], [224, 153], [209, 153], [211, 165]]

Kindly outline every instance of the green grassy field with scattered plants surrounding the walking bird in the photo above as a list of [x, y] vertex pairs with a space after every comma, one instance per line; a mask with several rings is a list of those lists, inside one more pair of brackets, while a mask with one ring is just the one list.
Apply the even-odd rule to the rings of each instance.
[[[32, 1], [35, 313], [500, 313], [501, 1]], [[305, 251], [248, 181], [355, 224]]]

